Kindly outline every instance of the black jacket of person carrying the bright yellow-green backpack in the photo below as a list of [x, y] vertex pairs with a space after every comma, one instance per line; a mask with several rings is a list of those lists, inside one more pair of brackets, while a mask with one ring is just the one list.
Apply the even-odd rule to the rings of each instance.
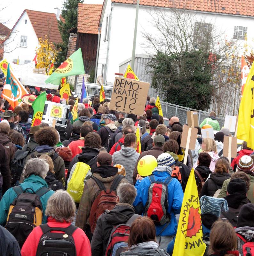
[[[65, 189], [67, 188], [67, 180], [69, 179], [72, 166], [77, 162], [87, 163], [95, 156], [98, 156], [99, 152], [100, 152], [100, 150], [98, 148], [90, 148], [90, 147], [82, 148], [82, 152], [80, 154], [78, 154], [77, 156], [75, 156], [69, 164], [68, 172], [66, 175]], [[97, 161], [94, 164], [92, 164], [90, 167], [91, 167], [91, 171], [93, 173], [94, 169], [97, 167]]]

